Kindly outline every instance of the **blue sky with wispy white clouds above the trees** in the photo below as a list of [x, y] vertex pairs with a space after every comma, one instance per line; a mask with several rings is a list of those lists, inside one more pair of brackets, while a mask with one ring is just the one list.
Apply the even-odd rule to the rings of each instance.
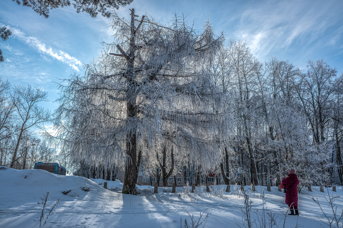
[[[325, 59], [343, 71], [343, 1], [158, 1], [134, 0], [118, 11], [129, 17], [128, 8], [136, 14], [149, 12], [161, 23], [174, 13], [187, 15], [190, 23], [201, 30], [210, 18], [216, 33], [222, 30], [228, 38], [246, 39], [261, 60], [271, 56], [288, 59], [306, 68], [308, 59]], [[101, 42], [111, 42], [108, 19], [77, 14], [72, 7], [50, 11], [48, 19], [31, 8], [10, 0], [0, 1], [0, 26], [9, 27], [13, 35], [0, 41], [5, 62], [0, 76], [12, 85], [33, 84], [48, 92], [50, 102], [58, 90], [53, 82], [68, 78], [74, 72], [83, 74], [83, 64], [96, 57]]]

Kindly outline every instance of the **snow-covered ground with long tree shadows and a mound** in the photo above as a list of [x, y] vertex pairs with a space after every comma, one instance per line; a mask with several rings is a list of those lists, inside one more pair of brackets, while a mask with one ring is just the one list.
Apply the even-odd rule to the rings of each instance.
[[[167, 187], [159, 187], [159, 193], [153, 194], [151, 186], [139, 186], [141, 193], [138, 196], [131, 196], [118, 193], [122, 188], [122, 183], [118, 180], [90, 180], [79, 176], [51, 174], [44, 170], [14, 170], [2, 167], [0, 166], [0, 227], [39, 227], [42, 205], [37, 202], [41, 201], [40, 197], [43, 198], [46, 191], [51, 191], [52, 195], [47, 202], [45, 215], [49, 213], [56, 200], [62, 200], [42, 227], [147, 228], [181, 227], [181, 224], [184, 227], [186, 218], [190, 222], [187, 211], [191, 215], [194, 214], [195, 220], [199, 218], [200, 211], [207, 209], [205, 214], [211, 214], [205, 227], [231, 228], [238, 227], [237, 221], [241, 222], [243, 216], [239, 208], [243, 206], [244, 199], [233, 192], [222, 195], [220, 189], [225, 186], [216, 186], [216, 194], [209, 194], [205, 189], [201, 192], [199, 187], [195, 199], [194, 193], [191, 193], [190, 198], [187, 194], [171, 193], [171, 188]], [[107, 187], [110, 190], [102, 187], [104, 182], [108, 183]], [[82, 190], [86, 185], [90, 191]], [[234, 188], [232, 185], [231, 191], [234, 191]], [[78, 196], [75, 193], [64, 195], [62, 192], [67, 189], [75, 191]], [[250, 186], [246, 186], [245, 189], [250, 192]], [[283, 213], [287, 210], [284, 193], [277, 191], [276, 187], [271, 189], [272, 192], [268, 192], [266, 187], [258, 186], [256, 193], [250, 193], [253, 209], [259, 209], [257, 214], [262, 214], [259, 193], [264, 191], [267, 212], [275, 213], [278, 216], [276, 220], [281, 222], [279, 227], [283, 227]], [[184, 191], [184, 187], [177, 188], [177, 192]], [[343, 190], [338, 186], [337, 192], [329, 189], [329, 193], [343, 195]], [[300, 216], [287, 215], [285, 227], [295, 227], [297, 222], [303, 227], [316, 228], [320, 227], [320, 224], [328, 227], [320, 222], [319, 218], [324, 219], [324, 215], [318, 205], [310, 199], [310, 196], [318, 198], [323, 210], [330, 213], [331, 207], [328, 207], [324, 199], [327, 195], [327, 192], [320, 192], [319, 187], [312, 187], [312, 192], [305, 190], [304, 193], [300, 193]], [[337, 199], [336, 204], [342, 211], [343, 198]], [[252, 219], [257, 218], [255, 213], [251, 216]]]

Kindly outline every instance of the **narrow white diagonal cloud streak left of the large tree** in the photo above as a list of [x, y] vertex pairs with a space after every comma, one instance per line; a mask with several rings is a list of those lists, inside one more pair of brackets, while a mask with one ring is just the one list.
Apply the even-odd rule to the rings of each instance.
[[[5, 26], [0, 24], [1, 26]], [[6, 25], [5, 27], [9, 28], [13, 35], [20, 39], [21, 41], [25, 42], [26, 44], [32, 46], [33, 48], [37, 49], [40, 53], [50, 56], [54, 59], [57, 59], [58, 61], [68, 64], [70, 67], [72, 67], [74, 70], [79, 71], [79, 67], [82, 66], [82, 63], [80, 60], [78, 60], [75, 57], [70, 56], [68, 53], [63, 52], [61, 50], [55, 50], [52, 49], [50, 46], [46, 45], [42, 41], [38, 40], [36, 37], [33, 36], [26, 36], [23, 31], [21, 31], [19, 28], [14, 28], [9, 25]]]

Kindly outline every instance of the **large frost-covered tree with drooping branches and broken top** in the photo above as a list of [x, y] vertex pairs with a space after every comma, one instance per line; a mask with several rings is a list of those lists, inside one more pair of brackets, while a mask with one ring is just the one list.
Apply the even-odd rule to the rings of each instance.
[[167, 140], [182, 158], [209, 170], [220, 161], [218, 138], [230, 132], [226, 115], [215, 111], [224, 101], [209, 70], [223, 35], [216, 37], [209, 21], [199, 33], [182, 17], [168, 25], [137, 17], [134, 9], [130, 21], [114, 15], [114, 43], [104, 44], [84, 78], [61, 88], [56, 122], [75, 158], [124, 165], [129, 194], [141, 157], [155, 157], [155, 145]]

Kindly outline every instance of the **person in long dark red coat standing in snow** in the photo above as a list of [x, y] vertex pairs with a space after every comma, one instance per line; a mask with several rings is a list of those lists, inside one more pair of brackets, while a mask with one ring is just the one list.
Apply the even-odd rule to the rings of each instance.
[[[295, 170], [289, 170], [288, 176], [282, 179], [282, 184], [285, 186], [286, 199], [285, 203], [288, 205], [291, 214], [289, 215], [299, 215], [298, 210], [298, 184], [299, 179], [295, 174]], [[295, 212], [295, 214], [294, 214]]]

